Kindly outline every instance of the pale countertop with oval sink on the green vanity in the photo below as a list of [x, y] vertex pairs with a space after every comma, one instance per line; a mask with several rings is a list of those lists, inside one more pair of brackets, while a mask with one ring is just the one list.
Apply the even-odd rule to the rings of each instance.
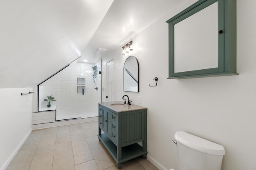
[[135, 104], [127, 105], [127, 104], [124, 104], [124, 102], [121, 102], [121, 101], [101, 102], [101, 103], [98, 103], [98, 104], [106, 106], [106, 107], [108, 107], [108, 108], [110, 108], [114, 111], [117, 111], [117, 112], [147, 109], [147, 107], [142, 107], [142, 106], [138, 106], [138, 105], [135, 105]]

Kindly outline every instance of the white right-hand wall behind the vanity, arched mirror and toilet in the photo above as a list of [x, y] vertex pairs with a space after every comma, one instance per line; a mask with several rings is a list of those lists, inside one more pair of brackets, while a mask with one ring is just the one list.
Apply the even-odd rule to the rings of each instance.
[[[116, 100], [127, 94], [148, 107], [148, 159], [160, 169], [178, 169], [176, 131], [186, 131], [226, 150], [222, 170], [255, 170], [256, 161], [256, 1], [237, 0], [238, 76], [170, 80], [168, 77], [168, 24], [165, 22], [196, 0], [184, 0], [163, 18], [133, 37], [140, 64], [140, 92], [122, 91], [122, 69], [129, 55], [122, 47], [102, 59], [102, 87], [106, 62], [115, 59]], [[158, 77], [158, 85], [152, 80]], [[102, 92], [102, 101], [106, 101]]]

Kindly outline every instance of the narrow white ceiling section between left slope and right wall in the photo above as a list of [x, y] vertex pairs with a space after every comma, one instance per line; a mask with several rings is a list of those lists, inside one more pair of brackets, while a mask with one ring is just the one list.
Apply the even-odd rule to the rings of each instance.
[[[96, 63], [128, 43], [134, 35], [175, 8], [183, 0], [114, 0], [104, 20], [82, 52], [79, 62]], [[166, 24], [166, 27], [168, 25]], [[97, 49], [106, 49], [98, 52]], [[93, 57], [92, 57], [93, 56]]]

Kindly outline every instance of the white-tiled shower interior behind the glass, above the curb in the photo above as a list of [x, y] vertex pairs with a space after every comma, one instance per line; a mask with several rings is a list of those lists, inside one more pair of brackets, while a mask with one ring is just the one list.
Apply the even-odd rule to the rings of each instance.
[[[97, 66], [94, 81], [92, 74]], [[95, 64], [74, 63], [64, 68], [39, 85], [38, 111], [56, 108], [56, 120], [98, 116], [98, 102], [101, 102], [101, 61]], [[80, 79], [81, 78], [81, 79]], [[78, 82], [84, 80], [85, 83]], [[84, 88], [84, 94], [79, 89]], [[98, 90], [96, 90], [98, 88]], [[46, 96], [56, 101], [47, 107]]]

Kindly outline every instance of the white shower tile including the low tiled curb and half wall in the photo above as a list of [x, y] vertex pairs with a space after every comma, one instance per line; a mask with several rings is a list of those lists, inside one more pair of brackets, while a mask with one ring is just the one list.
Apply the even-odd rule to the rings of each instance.
[[[92, 66], [98, 66], [98, 76], [96, 85], [92, 78]], [[39, 111], [37, 112], [37, 86], [33, 87], [33, 129], [45, 127], [54, 127], [61, 125], [69, 125], [73, 123], [82, 123], [98, 120], [98, 102], [101, 102], [101, 61], [96, 64], [76, 63], [68, 66], [48, 81], [44, 82], [44, 86], [40, 86], [42, 92], [39, 93], [39, 108], [47, 107], [44, 101], [46, 96], [54, 96], [57, 101], [52, 102], [52, 106], [57, 107], [58, 119], [74, 118], [79, 116], [81, 119], [73, 119], [67, 121], [55, 121], [56, 111]], [[82, 74], [82, 75], [81, 75]], [[86, 78], [85, 85], [77, 85], [78, 77]], [[86, 86], [84, 96], [77, 94], [77, 86]], [[98, 87], [98, 91], [94, 88]], [[40, 109], [39, 109], [40, 110]]]

